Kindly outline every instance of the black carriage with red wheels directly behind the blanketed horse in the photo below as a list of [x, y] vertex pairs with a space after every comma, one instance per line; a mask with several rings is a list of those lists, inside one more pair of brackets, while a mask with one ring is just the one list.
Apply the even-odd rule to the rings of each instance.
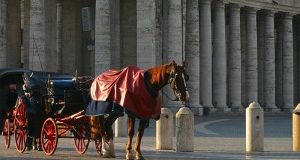
[[[84, 154], [90, 142], [88, 118], [84, 109], [89, 99], [91, 77], [52, 74], [43, 77], [46, 84], [45, 112], [47, 119], [41, 130], [41, 145], [46, 155], [52, 155], [59, 138], [73, 138], [79, 154]], [[99, 142], [96, 141], [96, 148]]]

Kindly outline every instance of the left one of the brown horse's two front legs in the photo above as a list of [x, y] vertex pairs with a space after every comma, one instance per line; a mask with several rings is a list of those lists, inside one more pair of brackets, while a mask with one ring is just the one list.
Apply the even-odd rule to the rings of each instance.
[[126, 160], [133, 159], [133, 155], [131, 152], [131, 144], [132, 144], [132, 138], [134, 136], [134, 123], [135, 123], [135, 118], [128, 115], [128, 121], [127, 121], [128, 142], [126, 145]]

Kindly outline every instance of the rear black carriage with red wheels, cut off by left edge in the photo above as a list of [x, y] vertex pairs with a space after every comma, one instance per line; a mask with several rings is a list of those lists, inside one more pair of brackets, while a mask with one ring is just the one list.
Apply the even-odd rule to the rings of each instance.
[[15, 137], [16, 149], [23, 153], [26, 148], [27, 118], [23, 95], [23, 75], [26, 69], [0, 69], [0, 125], [5, 146], [10, 147], [11, 135]]

